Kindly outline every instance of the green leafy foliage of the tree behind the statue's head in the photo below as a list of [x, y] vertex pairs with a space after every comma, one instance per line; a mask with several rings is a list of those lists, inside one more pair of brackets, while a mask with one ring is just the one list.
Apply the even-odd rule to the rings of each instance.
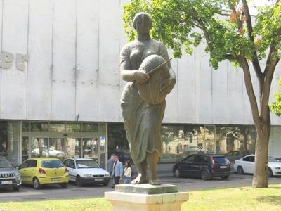
[[[136, 13], [150, 13], [153, 20], [152, 38], [162, 41], [181, 58], [182, 50], [191, 54], [194, 47], [206, 41], [210, 65], [237, 56], [247, 60], [266, 57], [266, 50], [275, 43], [281, 49], [281, 4], [266, 6], [256, 16], [254, 40], [248, 36], [247, 18], [241, 1], [236, 0], [132, 0], [124, 5], [124, 27], [129, 40], [136, 38], [132, 21]], [[233, 11], [235, 10], [235, 11]], [[280, 55], [277, 55], [280, 56]]]

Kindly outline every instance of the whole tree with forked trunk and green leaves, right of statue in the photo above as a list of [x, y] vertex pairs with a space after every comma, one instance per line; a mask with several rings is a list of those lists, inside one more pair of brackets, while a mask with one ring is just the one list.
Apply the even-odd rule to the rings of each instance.
[[[268, 141], [270, 136], [270, 86], [275, 67], [280, 60], [281, 4], [271, 1], [255, 17], [250, 15], [247, 0], [132, 0], [124, 5], [124, 27], [129, 39], [136, 37], [131, 23], [139, 11], [150, 13], [152, 37], [161, 40], [181, 58], [181, 48], [191, 54], [193, 46], [202, 40], [209, 52], [209, 64], [230, 60], [240, 66], [249, 96], [256, 127], [256, 160], [253, 187], [267, 187]], [[266, 59], [262, 68], [261, 60]], [[255, 93], [250, 74], [254, 68], [259, 82]]]

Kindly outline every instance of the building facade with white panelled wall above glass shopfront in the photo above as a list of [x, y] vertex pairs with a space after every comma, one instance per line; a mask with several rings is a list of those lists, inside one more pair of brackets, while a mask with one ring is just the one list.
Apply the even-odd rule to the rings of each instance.
[[[126, 2], [0, 0], [0, 155], [16, 164], [81, 156], [103, 167], [110, 153], [129, 159], [119, 106]], [[197, 152], [254, 153], [242, 70], [228, 62], [210, 68], [204, 44], [171, 65], [177, 84], [166, 98], [159, 162]], [[278, 65], [271, 93], [280, 74]], [[269, 154], [281, 158], [281, 119], [271, 119]]]

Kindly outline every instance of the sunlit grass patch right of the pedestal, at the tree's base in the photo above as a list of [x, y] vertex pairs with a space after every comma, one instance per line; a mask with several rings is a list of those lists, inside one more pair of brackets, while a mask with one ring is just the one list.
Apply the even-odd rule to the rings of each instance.
[[182, 210], [281, 210], [281, 184], [268, 188], [220, 188], [190, 191]]

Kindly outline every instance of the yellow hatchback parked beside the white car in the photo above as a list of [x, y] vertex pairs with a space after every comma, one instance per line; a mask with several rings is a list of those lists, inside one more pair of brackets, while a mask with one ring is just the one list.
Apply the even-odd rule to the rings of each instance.
[[67, 168], [57, 158], [30, 158], [22, 162], [19, 170], [22, 184], [33, 184], [34, 189], [44, 184], [60, 184], [61, 188], [67, 188]]

